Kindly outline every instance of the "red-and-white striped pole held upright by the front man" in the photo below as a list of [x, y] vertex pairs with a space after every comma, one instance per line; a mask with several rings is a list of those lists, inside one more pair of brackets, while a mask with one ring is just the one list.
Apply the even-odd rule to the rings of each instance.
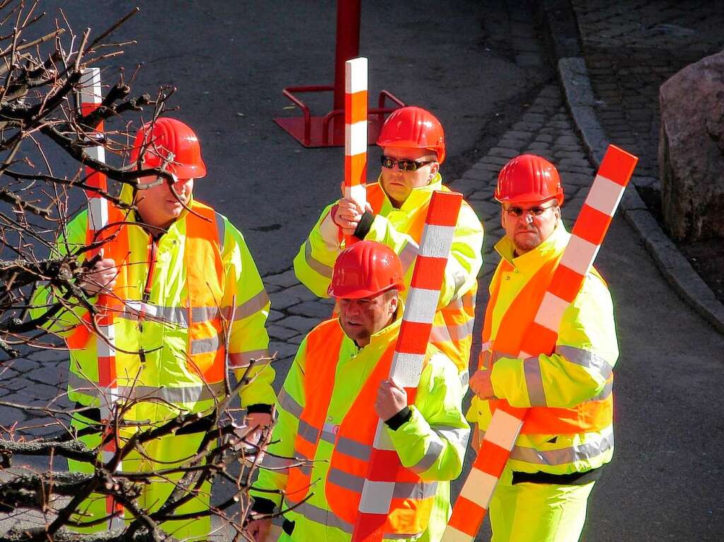
[[[425, 219], [425, 229], [390, 368], [390, 378], [407, 392], [408, 405], [415, 402], [432, 331], [432, 319], [437, 310], [445, 264], [450, 255], [452, 235], [462, 202], [463, 195], [457, 192], [434, 192]], [[352, 535], [353, 542], [382, 540], [382, 528], [390, 513], [397, 471], [403, 468], [405, 467], [400, 463], [400, 457], [392, 446], [387, 428], [382, 420], [379, 420], [362, 488], [359, 514]]]

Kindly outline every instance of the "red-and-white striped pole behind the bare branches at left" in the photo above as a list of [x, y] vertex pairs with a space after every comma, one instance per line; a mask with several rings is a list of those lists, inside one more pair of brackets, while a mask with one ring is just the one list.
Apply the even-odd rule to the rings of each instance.
[[[103, 98], [103, 92], [101, 90], [101, 69], [99, 68], [86, 68], [83, 71], [83, 77], [80, 80], [80, 112], [83, 115], [87, 115], [93, 112], [101, 104]], [[100, 134], [104, 130], [103, 123], [98, 124], [95, 127], [96, 133]], [[97, 145], [95, 147], [88, 147], [85, 149], [85, 153], [99, 162], [106, 161], [106, 150], [103, 145]], [[105, 174], [96, 172], [88, 166], [85, 166], [85, 174], [87, 175], [88, 185], [100, 188], [101, 190], [107, 190], [107, 182]], [[108, 225], [109, 212], [108, 212], [108, 200], [98, 192], [92, 190], [86, 190], [86, 197], [88, 198], [88, 230], [89, 232], [98, 232]], [[97, 253], [103, 253], [102, 249], [88, 253], [88, 258], [93, 258]], [[98, 331], [105, 336], [105, 339], [101, 336], [96, 338], [96, 351], [98, 353], [98, 387], [101, 391], [101, 420], [104, 423], [109, 424], [108, 429], [112, 431], [112, 410], [118, 399], [118, 389], [116, 381], [116, 352], [112, 346], [115, 341], [114, 328], [113, 328], [113, 313], [108, 308], [112, 304], [111, 296], [108, 294], [101, 293], [98, 295], [98, 302], [96, 308], [96, 326]], [[104, 434], [106, 436], [106, 434]], [[116, 453], [116, 438], [109, 439], [109, 442], [104, 446], [102, 457], [104, 463], [108, 463]], [[117, 470], [121, 470], [120, 462], [117, 465]], [[106, 497], [106, 513], [110, 515], [107, 528], [117, 529], [123, 527], [123, 507], [114, 501], [113, 497]]]

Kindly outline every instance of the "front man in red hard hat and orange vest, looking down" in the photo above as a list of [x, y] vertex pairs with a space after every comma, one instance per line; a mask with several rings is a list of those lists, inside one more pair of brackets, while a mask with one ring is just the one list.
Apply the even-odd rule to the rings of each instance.
[[[384, 538], [442, 536], [448, 480], [460, 475], [468, 439], [463, 385], [455, 364], [432, 344], [413, 405], [405, 389], [387, 379], [403, 289], [399, 258], [377, 242], [357, 242], [334, 263], [329, 295], [339, 318], [319, 324], [300, 344], [277, 402], [268, 449], [274, 457], [264, 460], [277, 469], [260, 470], [251, 492], [256, 512], [294, 507], [285, 512], [280, 541], [350, 540], [379, 420], [407, 467], [397, 473]], [[284, 492], [283, 502], [274, 491]], [[248, 532], [264, 541], [270, 523], [252, 521]]]

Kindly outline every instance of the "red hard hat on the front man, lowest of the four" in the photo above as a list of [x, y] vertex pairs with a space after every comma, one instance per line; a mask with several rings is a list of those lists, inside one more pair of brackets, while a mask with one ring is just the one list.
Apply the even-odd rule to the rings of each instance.
[[361, 299], [392, 288], [405, 289], [400, 258], [379, 242], [358, 241], [337, 256], [327, 293], [332, 297]]

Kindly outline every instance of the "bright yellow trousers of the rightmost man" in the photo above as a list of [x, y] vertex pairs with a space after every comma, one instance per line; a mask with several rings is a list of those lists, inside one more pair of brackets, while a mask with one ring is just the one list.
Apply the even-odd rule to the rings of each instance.
[[491, 542], [577, 542], [595, 482], [581, 486], [517, 483], [503, 471], [490, 501]]

